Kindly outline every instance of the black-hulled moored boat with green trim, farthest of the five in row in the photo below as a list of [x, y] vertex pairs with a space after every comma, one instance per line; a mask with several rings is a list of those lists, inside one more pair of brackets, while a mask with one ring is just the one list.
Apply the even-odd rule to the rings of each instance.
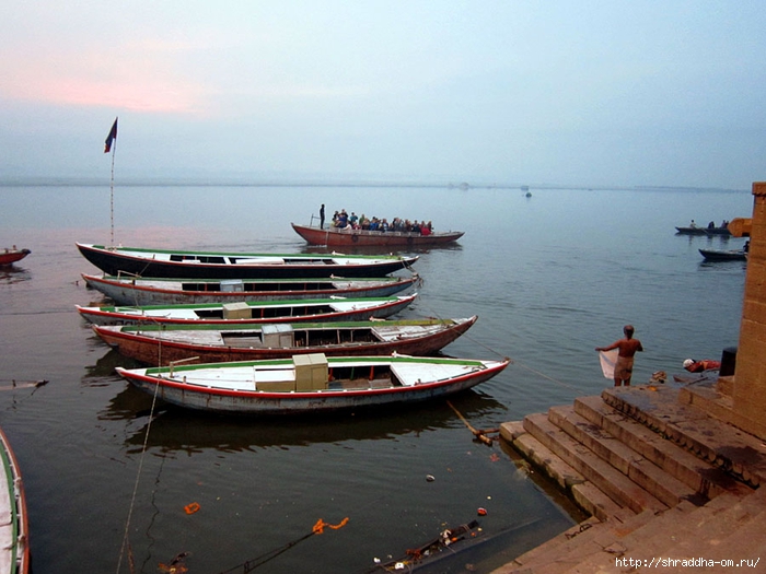
[[285, 279], [291, 277], [384, 277], [405, 269], [417, 257], [341, 254], [247, 254], [181, 251], [77, 244], [107, 274], [206, 279]]

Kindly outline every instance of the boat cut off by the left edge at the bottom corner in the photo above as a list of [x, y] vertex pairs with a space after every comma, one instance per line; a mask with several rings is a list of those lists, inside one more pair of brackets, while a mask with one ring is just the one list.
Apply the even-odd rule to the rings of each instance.
[[26, 495], [19, 462], [1, 429], [0, 459], [4, 479], [0, 485], [0, 572], [26, 574], [30, 572]]

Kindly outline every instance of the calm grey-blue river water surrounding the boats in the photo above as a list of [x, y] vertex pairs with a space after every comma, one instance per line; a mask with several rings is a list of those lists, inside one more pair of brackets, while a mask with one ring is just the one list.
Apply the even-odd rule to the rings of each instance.
[[573, 524], [566, 500], [500, 444], [475, 443], [445, 401], [277, 420], [152, 410], [114, 373], [131, 363], [74, 309], [105, 301], [84, 286], [80, 273], [96, 269], [74, 243], [108, 244], [113, 224], [126, 246], [293, 253], [306, 246], [290, 222], [325, 203], [328, 216], [343, 208], [466, 231], [418, 254], [420, 296], [404, 315], [477, 314], [444, 352], [514, 360], [452, 399], [474, 427], [599, 394], [611, 382], [594, 347], [626, 323], [646, 349], [636, 384], [738, 343], [745, 265], [705, 263], [697, 249], [743, 239], [674, 226], [750, 216], [748, 191], [531, 191], [0, 187], [0, 247], [32, 249], [0, 271], [0, 425], [24, 476], [34, 572], [153, 573], [188, 552], [193, 573], [361, 573], [485, 508], [480, 536], [432, 570], [483, 573]]

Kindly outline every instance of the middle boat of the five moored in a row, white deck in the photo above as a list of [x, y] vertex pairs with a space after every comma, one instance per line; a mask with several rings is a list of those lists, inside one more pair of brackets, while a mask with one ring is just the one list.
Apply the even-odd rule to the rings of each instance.
[[95, 325], [300, 323], [385, 318], [409, 305], [417, 293], [379, 298], [241, 301], [204, 305], [77, 306]]

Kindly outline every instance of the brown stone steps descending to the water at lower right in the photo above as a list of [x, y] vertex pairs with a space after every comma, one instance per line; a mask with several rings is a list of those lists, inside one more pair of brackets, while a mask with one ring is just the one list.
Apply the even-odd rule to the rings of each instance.
[[677, 397], [610, 389], [503, 424], [502, 438], [592, 517], [494, 574], [688, 572], [685, 558], [720, 572], [713, 561], [759, 555], [766, 571], [766, 489], [751, 488], [766, 446]]

